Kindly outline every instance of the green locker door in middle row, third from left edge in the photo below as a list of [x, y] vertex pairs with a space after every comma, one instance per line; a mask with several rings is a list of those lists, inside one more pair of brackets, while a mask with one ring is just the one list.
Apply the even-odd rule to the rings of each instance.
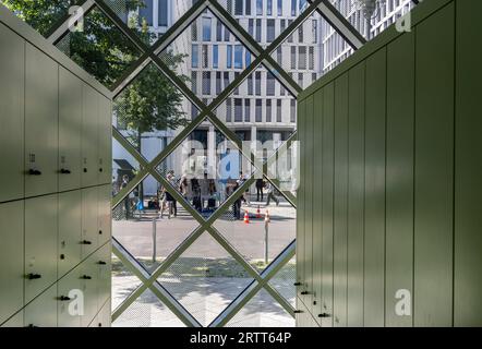
[[82, 191], [59, 194], [58, 277], [81, 262]]

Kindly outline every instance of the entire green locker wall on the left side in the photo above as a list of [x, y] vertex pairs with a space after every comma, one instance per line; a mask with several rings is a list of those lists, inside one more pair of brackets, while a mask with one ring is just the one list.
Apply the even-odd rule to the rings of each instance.
[[108, 326], [111, 101], [1, 23], [0, 47], [0, 325]]

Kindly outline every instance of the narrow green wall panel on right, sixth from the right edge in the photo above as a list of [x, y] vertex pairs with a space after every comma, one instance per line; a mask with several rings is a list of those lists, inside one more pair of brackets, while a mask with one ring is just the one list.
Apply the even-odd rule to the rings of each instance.
[[347, 326], [348, 73], [335, 81], [334, 326]]

